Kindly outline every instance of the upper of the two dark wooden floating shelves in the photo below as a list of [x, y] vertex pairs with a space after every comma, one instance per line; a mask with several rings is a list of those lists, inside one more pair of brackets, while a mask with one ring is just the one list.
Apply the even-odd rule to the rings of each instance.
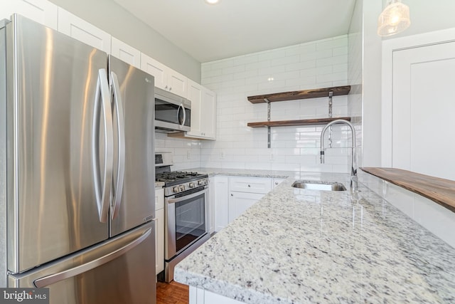
[[248, 96], [250, 103], [267, 103], [265, 99], [269, 100], [270, 103], [285, 100], [299, 100], [307, 98], [319, 98], [328, 97], [330, 92], [333, 92], [333, 96], [348, 95], [350, 91], [350, 85], [343, 85], [340, 87], [333, 88], [320, 88], [313, 90], [299, 90], [294, 92], [284, 93], [273, 93], [266, 95]]

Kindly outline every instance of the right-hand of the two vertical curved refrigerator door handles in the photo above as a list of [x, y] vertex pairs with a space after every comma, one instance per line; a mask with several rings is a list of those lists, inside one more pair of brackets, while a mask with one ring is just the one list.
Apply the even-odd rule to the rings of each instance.
[[118, 155], [119, 162], [117, 164], [117, 182], [115, 184], [114, 206], [112, 206], [112, 219], [115, 219], [119, 214], [120, 204], [122, 203], [123, 181], [125, 172], [125, 122], [124, 110], [122, 103], [122, 95], [120, 93], [120, 85], [117, 75], [111, 72], [111, 87], [114, 95], [114, 105], [117, 108], [117, 134], [118, 138]]

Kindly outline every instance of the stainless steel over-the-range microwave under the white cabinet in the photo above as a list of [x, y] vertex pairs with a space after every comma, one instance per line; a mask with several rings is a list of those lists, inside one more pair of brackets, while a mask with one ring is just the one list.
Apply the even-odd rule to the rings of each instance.
[[155, 87], [155, 129], [182, 132], [191, 128], [191, 101]]

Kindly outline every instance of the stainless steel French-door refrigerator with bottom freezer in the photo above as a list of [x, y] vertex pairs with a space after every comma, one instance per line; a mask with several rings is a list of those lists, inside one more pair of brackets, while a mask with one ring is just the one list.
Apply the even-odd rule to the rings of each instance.
[[18, 15], [0, 70], [1, 287], [155, 303], [153, 76]]

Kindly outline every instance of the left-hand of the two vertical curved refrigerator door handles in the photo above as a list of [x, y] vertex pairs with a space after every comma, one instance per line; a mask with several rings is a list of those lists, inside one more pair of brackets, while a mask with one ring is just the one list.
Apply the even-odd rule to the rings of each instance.
[[[101, 107], [100, 107], [101, 100]], [[98, 134], [98, 122], [100, 119], [100, 108], [102, 108], [102, 115], [104, 117], [104, 125], [102, 130], [105, 132], [105, 169], [100, 179], [99, 171], [99, 156], [98, 156], [98, 142], [100, 136]], [[100, 222], [106, 223], [109, 216], [109, 201], [112, 184], [112, 164], [114, 162], [114, 135], [112, 134], [112, 108], [109, 98], [109, 85], [107, 84], [107, 73], [104, 68], [98, 70], [97, 90], [95, 98], [95, 110], [93, 115], [92, 124], [92, 165], [93, 176], [95, 177], [95, 195], [98, 206], [98, 214]], [[100, 183], [102, 189], [100, 189]], [[100, 193], [101, 192], [101, 193]]]

